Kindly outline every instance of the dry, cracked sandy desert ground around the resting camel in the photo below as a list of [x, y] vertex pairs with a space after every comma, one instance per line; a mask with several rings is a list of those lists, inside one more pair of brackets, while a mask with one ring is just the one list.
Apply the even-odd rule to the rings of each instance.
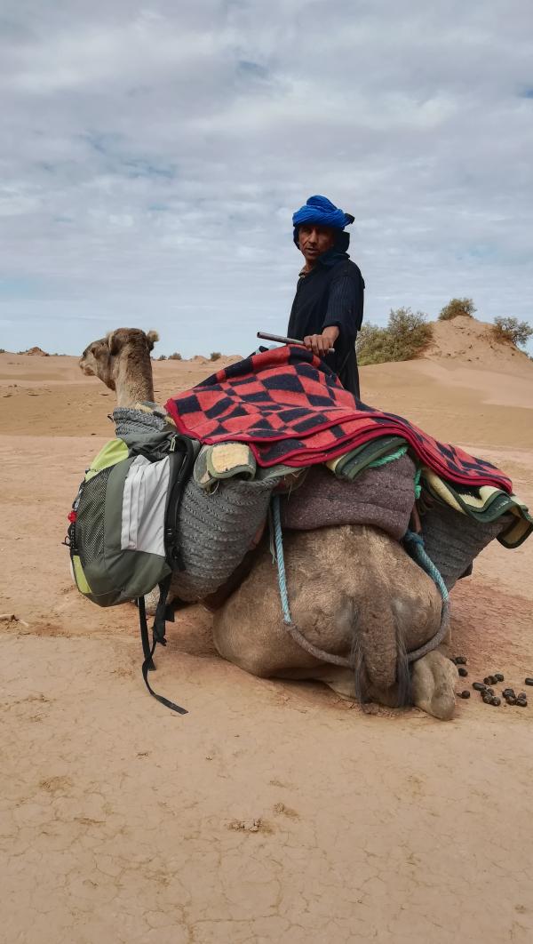
[[[364, 715], [319, 685], [226, 664], [192, 607], [158, 655], [158, 690], [190, 710], [172, 715], [143, 686], [135, 611], [80, 598], [60, 545], [82, 470], [111, 434], [110, 400], [69, 358], [39, 363], [56, 379], [15, 360], [17, 392], [0, 399], [0, 613], [19, 617], [0, 622], [0, 939], [530, 942], [533, 706], [459, 700], [449, 723]], [[160, 398], [197, 379], [163, 367]], [[526, 405], [499, 437], [489, 409], [460, 426], [441, 378], [417, 413], [392, 373], [380, 401], [369, 370], [371, 402], [393, 393], [399, 412], [478, 447], [533, 503]], [[488, 671], [533, 675], [532, 564], [533, 540], [493, 544], [458, 585], [460, 687]]]

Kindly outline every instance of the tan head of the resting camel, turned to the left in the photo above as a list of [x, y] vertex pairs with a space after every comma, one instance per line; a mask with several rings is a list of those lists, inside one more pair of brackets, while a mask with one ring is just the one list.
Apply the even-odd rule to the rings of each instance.
[[[98, 377], [110, 390], [115, 389], [121, 354], [131, 361], [131, 367], [150, 364], [150, 351], [159, 340], [157, 331], [144, 333], [139, 328], [117, 328], [88, 345], [79, 359], [79, 366], [89, 377]], [[151, 371], [150, 371], [151, 373]]]

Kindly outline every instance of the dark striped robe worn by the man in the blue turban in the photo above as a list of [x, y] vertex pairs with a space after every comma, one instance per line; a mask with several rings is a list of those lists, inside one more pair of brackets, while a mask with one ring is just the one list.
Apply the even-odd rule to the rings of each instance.
[[356, 337], [363, 318], [364, 281], [347, 253], [326, 252], [306, 275], [300, 273], [292, 302], [288, 336], [303, 340], [321, 334], [330, 325], [341, 333], [335, 353], [325, 362], [341, 380], [345, 390], [359, 396]]

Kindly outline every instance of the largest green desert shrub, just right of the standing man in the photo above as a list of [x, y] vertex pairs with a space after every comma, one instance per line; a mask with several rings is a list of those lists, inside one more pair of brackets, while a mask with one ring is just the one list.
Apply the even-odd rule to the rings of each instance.
[[358, 333], [358, 363], [409, 361], [422, 353], [433, 336], [433, 329], [422, 312], [410, 308], [391, 311], [387, 328], [363, 324]]

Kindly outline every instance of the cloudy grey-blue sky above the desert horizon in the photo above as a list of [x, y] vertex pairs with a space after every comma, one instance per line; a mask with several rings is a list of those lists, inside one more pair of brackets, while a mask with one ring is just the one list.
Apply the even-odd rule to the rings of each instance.
[[528, 0], [3, 0], [0, 346], [285, 333], [291, 214], [356, 222], [365, 320], [533, 324]]

